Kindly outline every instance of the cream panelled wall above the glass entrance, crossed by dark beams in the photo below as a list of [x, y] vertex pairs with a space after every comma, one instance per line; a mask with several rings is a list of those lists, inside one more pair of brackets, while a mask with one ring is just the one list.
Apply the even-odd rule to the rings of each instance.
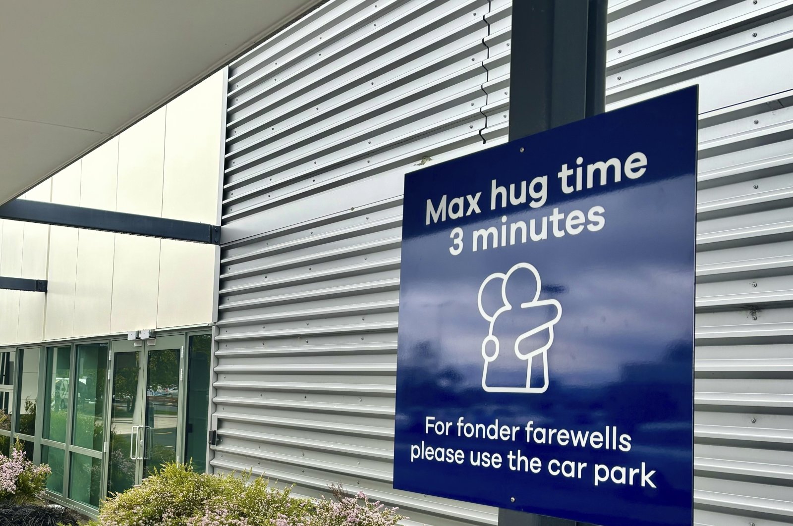
[[[25, 198], [158, 217], [165, 200], [169, 217], [216, 223], [223, 78], [221, 72], [202, 82], [170, 103], [170, 116], [166, 107], [151, 113]], [[48, 279], [49, 292], [0, 292], [0, 341], [37, 343], [213, 320], [215, 246], [167, 242], [161, 259], [154, 238], [33, 223], [25, 223], [24, 232], [22, 273]]]

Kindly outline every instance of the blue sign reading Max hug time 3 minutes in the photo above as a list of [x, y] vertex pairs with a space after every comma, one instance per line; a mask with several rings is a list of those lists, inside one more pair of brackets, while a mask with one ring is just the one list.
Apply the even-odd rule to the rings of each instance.
[[696, 101], [408, 174], [395, 488], [690, 526]]

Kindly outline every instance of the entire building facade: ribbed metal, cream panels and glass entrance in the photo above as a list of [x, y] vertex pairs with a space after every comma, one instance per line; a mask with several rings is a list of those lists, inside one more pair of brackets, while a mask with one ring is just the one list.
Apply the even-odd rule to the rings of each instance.
[[[403, 176], [507, 140], [513, 30], [508, 0], [330, 0], [31, 190], [222, 243], [4, 221], [0, 275], [49, 290], [0, 291], [0, 440], [87, 513], [192, 458], [496, 524], [393, 490], [393, 399]], [[607, 109], [693, 84], [695, 524], [790, 524], [793, 2], [613, 0]]]

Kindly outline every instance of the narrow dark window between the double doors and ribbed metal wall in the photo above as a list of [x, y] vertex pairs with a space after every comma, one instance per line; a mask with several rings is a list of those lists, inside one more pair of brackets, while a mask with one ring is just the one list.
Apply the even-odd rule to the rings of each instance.
[[204, 472], [206, 464], [207, 417], [209, 414], [209, 363], [212, 336], [200, 334], [190, 337], [190, 361], [187, 374], [187, 429], [185, 460], [193, 462], [193, 469]]

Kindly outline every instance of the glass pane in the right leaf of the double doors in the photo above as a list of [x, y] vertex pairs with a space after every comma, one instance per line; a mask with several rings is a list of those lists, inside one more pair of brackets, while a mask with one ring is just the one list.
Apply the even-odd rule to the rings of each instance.
[[180, 353], [181, 349], [148, 352], [144, 477], [176, 460]]

